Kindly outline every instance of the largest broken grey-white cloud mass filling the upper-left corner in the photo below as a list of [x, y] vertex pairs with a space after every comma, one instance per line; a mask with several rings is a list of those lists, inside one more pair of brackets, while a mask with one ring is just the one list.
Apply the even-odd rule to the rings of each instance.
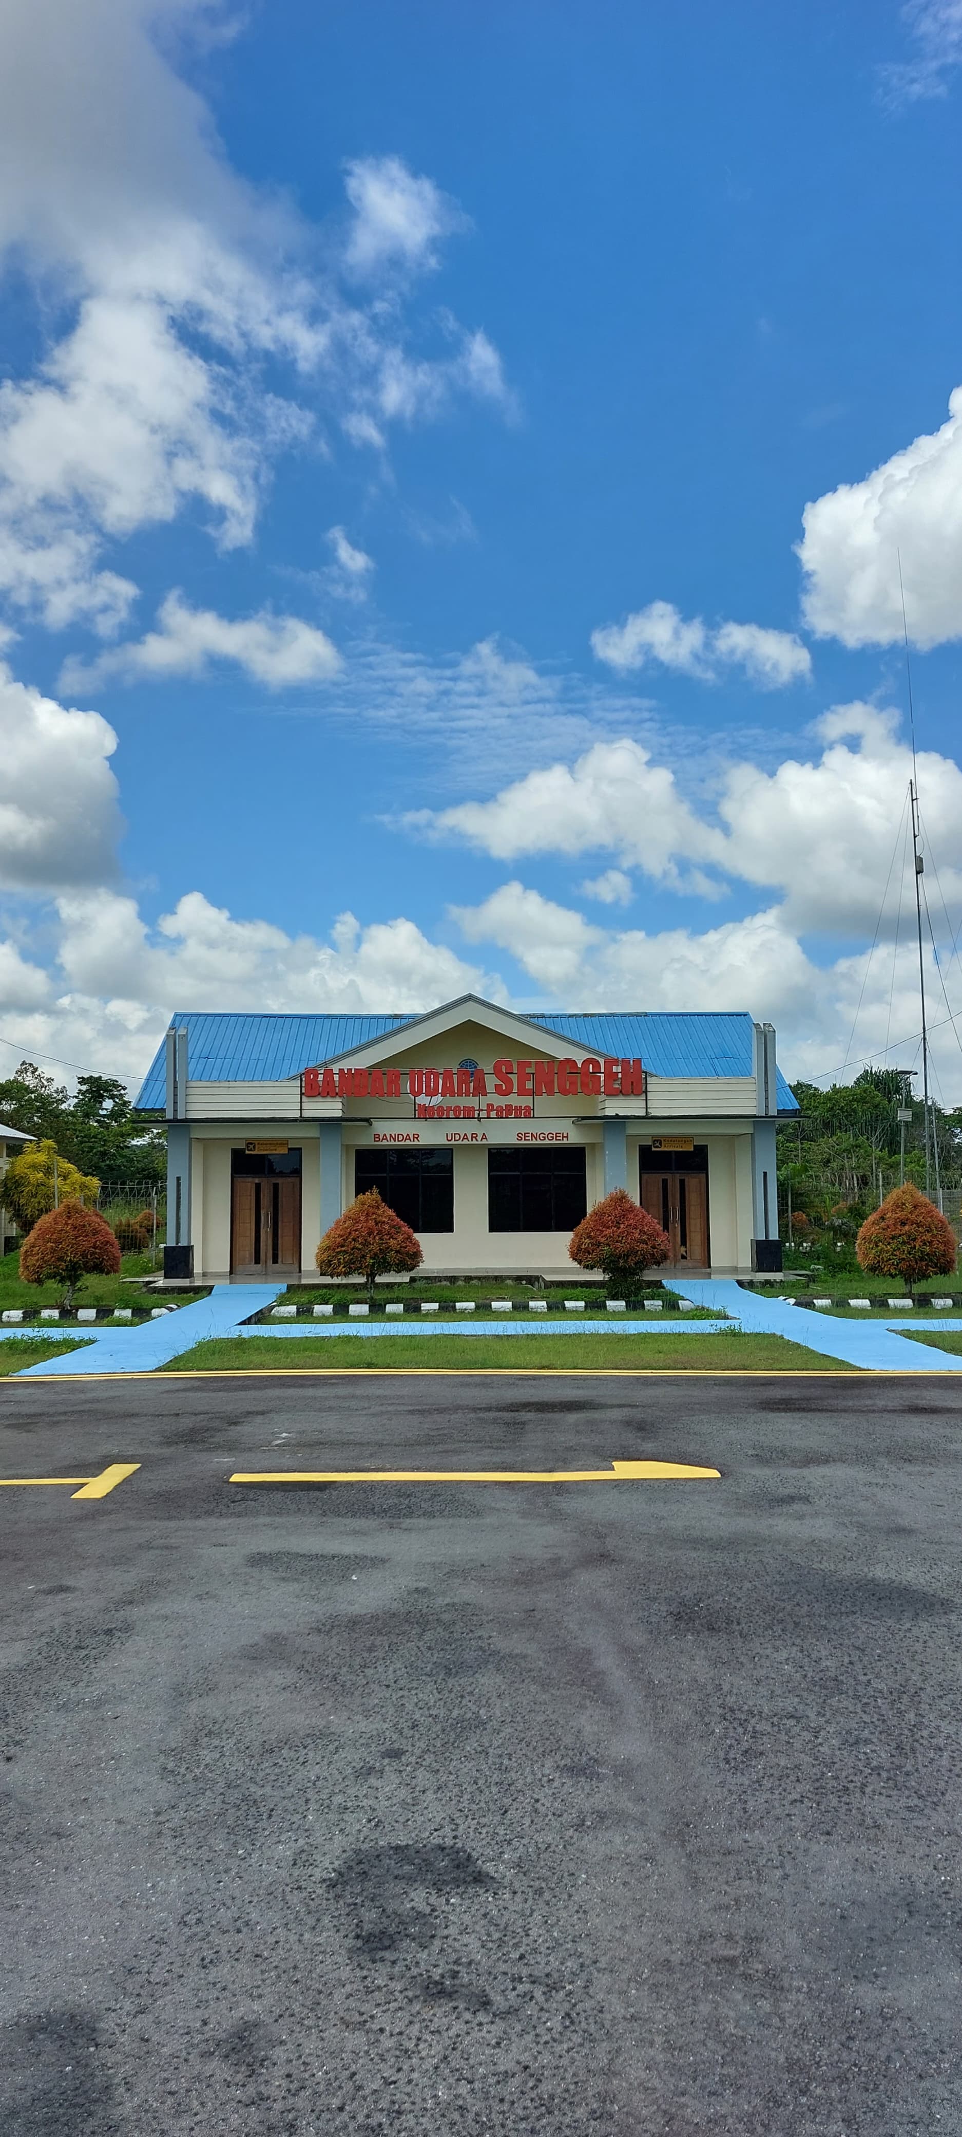
[[[231, 171], [154, 43], [205, 15], [205, 0], [2, 13], [0, 256], [43, 276], [38, 323], [58, 338], [0, 389], [0, 590], [49, 628], [122, 626], [135, 588], [105, 549], [139, 528], [192, 509], [220, 547], [248, 543], [276, 455], [321, 410], [383, 444], [453, 395], [509, 406], [483, 333], [449, 321], [449, 353], [421, 359], [395, 295], [346, 297], [336, 248], [325, 282], [308, 271], [312, 233]], [[348, 184], [370, 276], [398, 250], [434, 261], [455, 227], [395, 158]]]

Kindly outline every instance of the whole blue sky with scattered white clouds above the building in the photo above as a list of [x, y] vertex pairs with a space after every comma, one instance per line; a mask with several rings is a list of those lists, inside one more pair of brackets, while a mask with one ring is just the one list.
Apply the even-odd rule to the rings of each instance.
[[913, 1064], [902, 562], [962, 1098], [962, 0], [0, 60], [4, 1066], [468, 985]]

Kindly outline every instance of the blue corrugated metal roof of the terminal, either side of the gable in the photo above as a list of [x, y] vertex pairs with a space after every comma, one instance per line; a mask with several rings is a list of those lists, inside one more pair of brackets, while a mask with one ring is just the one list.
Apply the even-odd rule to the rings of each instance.
[[[338, 1060], [353, 1047], [398, 1032], [419, 1017], [233, 1015], [175, 1011], [186, 1026], [190, 1079], [201, 1083], [274, 1083], [314, 1062]], [[744, 1011], [611, 1011], [528, 1017], [541, 1030], [573, 1039], [596, 1054], [641, 1056], [652, 1075], [750, 1075], [752, 1019]], [[160, 1045], [137, 1105], [165, 1105], [165, 1047]], [[778, 1111], [795, 1113], [795, 1098], [778, 1071]]]

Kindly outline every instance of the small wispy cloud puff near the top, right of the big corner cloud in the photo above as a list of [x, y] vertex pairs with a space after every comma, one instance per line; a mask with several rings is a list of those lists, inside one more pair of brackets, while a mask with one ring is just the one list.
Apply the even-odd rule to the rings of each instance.
[[415, 177], [400, 156], [363, 156], [344, 180], [353, 207], [346, 246], [359, 276], [387, 267], [425, 271], [438, 265], [438, 237], [470, 229], [468, 218], [432, 177]]

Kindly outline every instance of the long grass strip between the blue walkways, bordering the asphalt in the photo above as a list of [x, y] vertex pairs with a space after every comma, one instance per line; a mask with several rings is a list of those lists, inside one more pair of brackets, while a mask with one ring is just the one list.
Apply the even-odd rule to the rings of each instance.
[[160, 1372], [857, 1372], [782, 1336], [224, 1336]]

